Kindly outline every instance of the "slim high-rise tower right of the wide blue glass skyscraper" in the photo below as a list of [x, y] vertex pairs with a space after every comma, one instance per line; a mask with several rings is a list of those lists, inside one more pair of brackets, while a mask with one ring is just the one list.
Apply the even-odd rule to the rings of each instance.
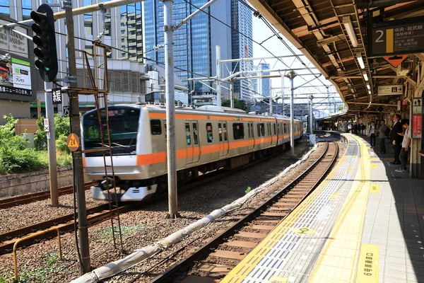
[[[245, 0], [231, 0], [231, 39], [232, 59], [253, 57], [252, 11], [242, 3]], [[248, 4], [247, 4], [248, 5]], [[251, 71], [252, 61], [243, 61], [232, 64], [233, 71]], [[253, 80], [237, 80], [234, 84], [234, 92], [238, 98], [245, 101], [252, 100]]]

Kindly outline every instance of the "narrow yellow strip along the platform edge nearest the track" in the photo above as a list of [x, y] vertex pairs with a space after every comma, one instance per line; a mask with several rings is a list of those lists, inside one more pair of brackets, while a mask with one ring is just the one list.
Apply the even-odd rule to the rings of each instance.
[[[352, 157], [352, 156], [349, 156]], [[249, 275], [256, 264], [268, 253], [271, 248], [273, 248], [278, 240], [281, 238], [281, 235], [284, 235], [289, 229], [295, 224], [295, 222], [302, 216], [302, 213], [305, 212], [305, 209], [310, 207], [310, 204], [316, 200], [316, 198], [326, 189], [327, 185], [331, 182], [331, 179], [334, 178], [338, 170], [346, 162], [346, 156], [342, 156], [341, 160], [337, 163], [334, 169], [329, 173], [327, 178], [322, 181], [322, 183], [311, 193], [307, 199], [302, 202], [292, 213], [290, 213], [280, 224], [269, 233], [266, 238], [264, 238], [259, 245], [254, 248], [234, 269], [232, 269], [227, 276], [225, 276], [220, 282], [221, 283], [237, 283], [242, 282], [242, 280]]]

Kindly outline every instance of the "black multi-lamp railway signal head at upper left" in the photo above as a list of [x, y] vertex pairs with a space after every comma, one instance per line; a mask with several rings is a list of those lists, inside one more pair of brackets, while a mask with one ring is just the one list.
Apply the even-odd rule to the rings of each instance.
[[34, 54], [38, 57], [35, 60], [35, 67], [40, 72], [42, 80], [50, 82], [56, 79], [58, 71], [53, 10], [49, 5], [42, 4], [37, 11], [32, 11], [30, 16], [34, 20], [33, 42], [37, 45], [34, 49]]

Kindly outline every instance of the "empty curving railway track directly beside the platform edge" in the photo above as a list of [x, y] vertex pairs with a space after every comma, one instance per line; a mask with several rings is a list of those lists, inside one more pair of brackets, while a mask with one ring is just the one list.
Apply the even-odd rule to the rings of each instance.
[[337, 155], [338, 144], [326, 141], [324, 153], [307, 171], [151, 283], [218, 282], [321, 183]]

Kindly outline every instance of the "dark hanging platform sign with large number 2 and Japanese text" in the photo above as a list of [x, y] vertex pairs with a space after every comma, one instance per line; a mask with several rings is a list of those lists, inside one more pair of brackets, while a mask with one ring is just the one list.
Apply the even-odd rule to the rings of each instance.
[[371, 23], [369, 57], [424, 52], [424, 16]]

